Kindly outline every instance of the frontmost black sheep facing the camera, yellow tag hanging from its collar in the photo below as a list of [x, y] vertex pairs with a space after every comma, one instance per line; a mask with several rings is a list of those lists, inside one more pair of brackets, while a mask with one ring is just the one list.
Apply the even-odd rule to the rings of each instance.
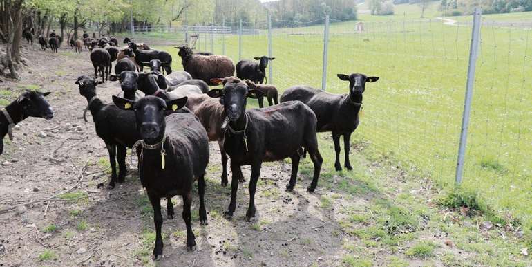
[[[192, 185], [198, 180], [200, 196], [200, 224], [207, 224], [205, 210], [205, 169], [209, 163], [209, 140], [198, 118], [191, 113], [173, 113], [165, 116], [165, 111], [175, 111], [184, 106], [187, 98], [164, 101], [149, 95], [132, 101], [113, 96], [117, 107], [133, 110], [137, 133], [142, 140], [139, 157], [139, 174], [142, 186], [153, 207], [155, 223], [155, 260], [162, 257], [162, 215], [160, 199], [181, 195], [183, 198], [183, 220], [187, 225], [187, 249], [196, 246], [196, 237], [191, 226]], [[168, 205], [171, 201], [167, 202]], [[173, 217], [173, 206], [167, 210]]]

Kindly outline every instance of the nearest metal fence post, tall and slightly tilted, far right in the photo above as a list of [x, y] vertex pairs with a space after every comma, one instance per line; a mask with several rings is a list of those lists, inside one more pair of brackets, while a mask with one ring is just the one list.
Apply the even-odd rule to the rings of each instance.
[[471, 112], [471, 100], [473, 98], [473, 86], [475, 85], [475, 68], [480, 44], [480, 16], [482, 11], [475, 8], [473, 15], [473, 30], [471, 33], [471, 47], [469, 48], [469, 67], [467, 69], [466, 99], [464, 100], [464, 114], [462, 115], [462, 132], [460, 133], [460, 145], [458, 147], [458, 160], [456, 164], [455, 183], [462, 183], [464, 174], [464, 157], [466, 154], [467, 131], [469, 127], [469, 113]]

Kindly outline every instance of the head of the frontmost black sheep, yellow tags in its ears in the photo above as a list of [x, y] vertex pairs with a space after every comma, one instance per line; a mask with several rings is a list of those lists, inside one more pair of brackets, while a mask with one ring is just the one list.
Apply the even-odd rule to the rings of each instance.
[[177, 111], [187, 104], [187, 97], [164, 101], [162, 98], [147, 95], [134, 101], [113, 95], [115, 105], [124, 110], [133, 110], [137, 121], [137, 131], [147, 144], [160, 142], [166, 123], [164, 111]]

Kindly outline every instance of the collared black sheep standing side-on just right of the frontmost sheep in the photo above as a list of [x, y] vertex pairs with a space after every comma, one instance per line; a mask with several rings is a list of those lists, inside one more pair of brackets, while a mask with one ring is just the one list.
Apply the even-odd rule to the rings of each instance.
[[[223, 89], [212, 89], [207, 93], [212, 98], [220, 98], [227, 114], [223, 146], [231, 158], [231, 170], [235, 173], [240, 166], [251, 165], [247, 221], [255, 217], [256, 185], [263, 162], [291, 158], [292, 174], [286, 189], [293, 190], [300, 160], [298, 151], [305, 147], [314, 163], [314, 176], [310, 187], [307, 187], [308, 192], [314, 192], [323, 162], [316, 138], [316, 116], [312, 109], [292, 101], [246, 111], [247, 98], [258, 98], [262, 94], [256, 89], [249, 89], [243, 82], [225, 84]], [[233, 176], [231, 203], [225, 212], [227, 217], [232, 217], [236, 208], [237, 190], [238, 181]]]

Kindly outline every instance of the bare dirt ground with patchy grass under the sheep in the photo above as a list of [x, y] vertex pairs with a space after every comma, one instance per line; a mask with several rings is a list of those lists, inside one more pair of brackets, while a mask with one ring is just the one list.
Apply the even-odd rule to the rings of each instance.
[[[53, 92], [47, 99], [55, 117], [50, 121], [24, 120], [15, 130], [15, 140], [6, 143], [0, 156], [0, 210], [73, 190], [55, 201], [41, 201], [0, 214], [0, 266], [154, 265], [151, 260], [153, 214], [137, 178], [137, 159], [133, 158], [132, 162], [130, 156], [127, 158], [126, 183], [114, 190], [98, 187], [99, 183], [107, 185], [110, 178], [108, 154], [104, 142], [95, 134], [90, 113], [88, 122], [82, 119], [87, 103], [74, 84], [79, 75], [93, 75], [88, 51], [77, 54], [64, 46], [54, 54], [49, 50], [39, 51], [35, 44], [26, 46], [23, 56], [29, 59], [30, 67], [22, 71], [21, 81], [2, 83], [0, 89], [15, 92], [6, 97], [11, 100], [22, 89]], [[111, 95], [118, 92], [117, 82], [106, 82], [98, 86], [97, 93], [111, 102]], [[368, 261], [369, 265], [448, 265], [441, 258], [406, 257], [404, 250], [412, 239], [405, 239], [401, 243], [404, 245], [390, 249], [391, 245], [375, 246], [380, 237], [371, 237], [373, 243], [365, 243], [360, 232], [354, 233], [357, 228], [372, 226], [371, 205], [376, 203], [375, 199], [393, 202], [401, 193], [410, 192], [415, 198], [413, 202], [429, 209], [427, 203], [433, 192], [426, 180], [407, 182], [402, 171], [382, 170], [381, 165], [365, 160], [356, 151], [352, 153], [353, 165], [361, 165], [363, 172], [369, 173], [361, 176], [383, 174], [388, 177], [383, 180], [383, 187], [390, 185], [390, 188], [375, 189], [363, 180], [343, 183], [347, 180], [342, 173], [331, 174], [332, 166], [324, 166], [319, 189], [309, 194], [305, 189], [310, 184], [307, 175], [310, 160], [306, 159], [294, 192], [285, 192], [291, 168], [289, 161], [267, 163], [263, 165], [256, 196], [258, 214], [249, 223], [244, 219], [249, 203], [247, 182], [239, 187], [234, 218], [228, 221], [221, 216], [229, 205], [230, 188], [220, 186], [218, 145], [211, 143], [206, 194], [209, 225], [199, 224], [198, 197], [194, 194], [193, 230], [197, 249], [189, 252], [184, 244], [183, 220], [180, 216], [167, 219], [163, 210], [164, 257], [156, 265], [339, 266], [353, 265], [352, 259], [361, 265], [368, 265]], [[243, 171], [249, 181], [249, 167]], [[180, 214], [180, 197], [174, 197], [173, 202], [175, 213]], [[164, 207], [165, 202], [162, 203]], [[367, 221], [346, 219], [353, 210], [370, 217]], [[444, 211], [434, 213], [444, 214]], [[444, 250], [445, 239], [450, 234], [441, 232], [427, 220], [420, 219], [416, 238], [432, 240], [439, 250]], [[458, 260], [473, 257], [458, 248], [439, 250], [436, 255], [445, 253]]]

